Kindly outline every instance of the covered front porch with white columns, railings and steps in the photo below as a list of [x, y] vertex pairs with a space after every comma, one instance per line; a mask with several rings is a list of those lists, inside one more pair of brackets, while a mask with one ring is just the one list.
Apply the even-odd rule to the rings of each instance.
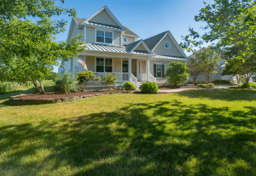
[[[150, 60], [133, 58], [110, 58], [102, 56], [84, 55], [80, 58], [84, 60], [88, 71], [93, 71], [95, 75], [103, 78], [109, 73], [118, 77], [118, 84], [132, 82], [139, 87], [142, 82], [157, 82], [157, 79], [150, 73]], [[75, 68], [77, 72], [84, 71], [81, 65]]]

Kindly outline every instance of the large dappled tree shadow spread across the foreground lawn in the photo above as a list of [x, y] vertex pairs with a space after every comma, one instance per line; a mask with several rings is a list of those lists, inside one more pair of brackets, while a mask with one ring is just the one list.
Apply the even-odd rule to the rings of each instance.
[[[0, 170], [34, 175], [54, 161], [49, 173], [69, 166], [83, 167], [74, 175], [255, 175], [256, 108], [246, 108], [157, 102], [36, 127], [3, 127], [0, 154], [7, 152], [7, 158]], [[41, 162], [20, 163], [38, 150], [50, 154]]]

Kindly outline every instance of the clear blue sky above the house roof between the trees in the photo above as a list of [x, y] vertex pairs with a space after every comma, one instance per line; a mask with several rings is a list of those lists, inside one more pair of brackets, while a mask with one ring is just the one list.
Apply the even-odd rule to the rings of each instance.
[[[204, 7], [204, 1], [211, 3], [207, 0], [65, 0], [64, 4], [60, 4], [64, 8], [76, 9], [77, 17], [84, 19], [106, 5], [123, 26], [127, 26], [140, 37], [138, 39], [146, 39], [163, 31], [171, 31], [177, 43], [181, 43], [182, 36], [189, 34], [189, 26], [195, 30], [204, 26], [203, 23], [194, 20], [195, 15], [199, 14], [199, 10]], [[67, 20], [66, 31], [56, 36], [57, 41], [65, 41], [72, 17], [61, 15], [58, 18]], [[189, 56], [189, 53], [185, 52], [185, 54]], [[54, 71], [56, 72], [57, 69], [55, 67]]]

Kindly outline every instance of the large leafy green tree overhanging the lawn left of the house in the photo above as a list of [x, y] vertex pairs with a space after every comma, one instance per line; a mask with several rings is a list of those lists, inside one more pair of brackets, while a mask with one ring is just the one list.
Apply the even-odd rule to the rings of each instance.
[[[51, 20], [55, 15], [75, 15], [55, 0], [3, 0], [0, 3], [0, 70], [2, 80], [32, 82], [44, 94], [42, 81], [58, 61], [76, 57], [82, 50], [79, 38], [56, 43], [67, 21]], [[61, 0], [61, 3], [64, 1]], [[33, 18], [36, 17], [36, 18]], [[28, 18], [32, 18], [29, 20]], [[37, 86], [40, 83], [41, 88]]]

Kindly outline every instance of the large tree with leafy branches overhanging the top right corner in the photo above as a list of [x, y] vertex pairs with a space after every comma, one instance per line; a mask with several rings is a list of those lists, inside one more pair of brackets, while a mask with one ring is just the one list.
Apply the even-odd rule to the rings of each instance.
[[183, 48], [203, 43], [217, 43], [224, 49], [224, 59], [242, 60], [253, 74], [256, 70], [256, 2], [254, 0], [214, 0], [195, 16], [195, 21], [205, 22], [200, 32], [189, 28], [183, 37]]

